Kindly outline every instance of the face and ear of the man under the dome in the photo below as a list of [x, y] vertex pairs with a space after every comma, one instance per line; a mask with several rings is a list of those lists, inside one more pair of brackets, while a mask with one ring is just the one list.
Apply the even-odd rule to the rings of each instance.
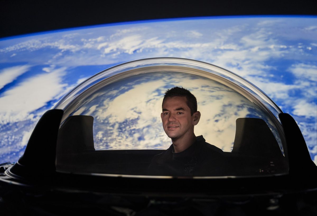
[[171, 97], [166, 98], [162, 105], [163, 128], [166, 135], [172, 139], [194, 133], [194, 125], [198, 123], [195, 122], [195, 113], [191, 116], [191, 110], [186, 101], [185, 97]]

